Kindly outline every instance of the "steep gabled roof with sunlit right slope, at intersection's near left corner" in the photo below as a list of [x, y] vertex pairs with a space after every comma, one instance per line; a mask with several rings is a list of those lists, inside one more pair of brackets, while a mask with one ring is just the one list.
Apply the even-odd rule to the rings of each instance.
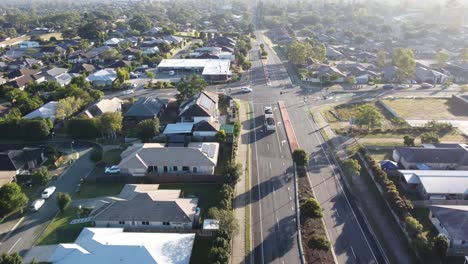
[[179, 117], [214, 116], [219, 97], [215, 93], [200, 92], [181, 104]]

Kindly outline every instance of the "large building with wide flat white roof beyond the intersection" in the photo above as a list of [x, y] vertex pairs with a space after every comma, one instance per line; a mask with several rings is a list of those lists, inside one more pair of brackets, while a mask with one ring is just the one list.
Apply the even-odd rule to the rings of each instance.
[[231, 61], [220, 59], [164, 59], [157, 70], [178, 74], [201, 74], [207, 81], [227, 81], [231, 78]]

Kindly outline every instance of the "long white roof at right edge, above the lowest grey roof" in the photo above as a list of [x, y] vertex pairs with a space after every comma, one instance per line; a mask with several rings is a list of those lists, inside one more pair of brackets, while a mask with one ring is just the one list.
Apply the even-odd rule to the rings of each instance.
[[407, 183], [421, 184], [428, 194], [468, 194], [468, 171], [400, 170]]

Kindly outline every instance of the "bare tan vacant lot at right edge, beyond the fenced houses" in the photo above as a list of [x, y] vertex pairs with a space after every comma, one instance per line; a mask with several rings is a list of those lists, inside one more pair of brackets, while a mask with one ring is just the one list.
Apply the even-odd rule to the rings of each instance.
[[382, 100], [404, 119], [468, 120], [467, 109], [450, 99], [416, 98]]

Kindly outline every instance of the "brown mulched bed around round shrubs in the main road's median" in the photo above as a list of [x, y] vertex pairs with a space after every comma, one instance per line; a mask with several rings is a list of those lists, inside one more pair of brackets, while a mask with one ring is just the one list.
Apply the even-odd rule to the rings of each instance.
[[[298, 186], [299, 186], [299, 201], [306, 200], [314, 197], [312, 188], [307, 180], [305, 169], [298, 169]], [[308, 218], [304, 219], [301, 217], [301, 238], [302, 248], [307, 263], [321, 263], [321, 264], [332, 264], [335, 263], [333, 260], [333, 254], [331, 250], [317, 250], [308, 247], [308, 242], [312, 236], [325, 236], [325, 227], [322, 224], [321, 218]]]

